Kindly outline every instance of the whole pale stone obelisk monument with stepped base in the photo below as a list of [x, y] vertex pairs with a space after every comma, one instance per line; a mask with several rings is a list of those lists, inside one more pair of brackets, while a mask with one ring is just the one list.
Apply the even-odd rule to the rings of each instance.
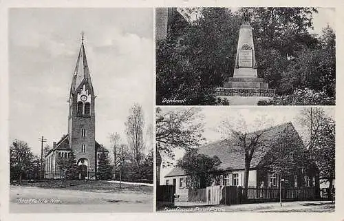
[[237, 56], [233, 77], [228, 78], [224, 87], [217, 88], [218, 96], [264, 96], [275, 95], [268, 83], [257, 76], [255, 46], [248, 11], [244, 13], [244, 23], [240, 26]]

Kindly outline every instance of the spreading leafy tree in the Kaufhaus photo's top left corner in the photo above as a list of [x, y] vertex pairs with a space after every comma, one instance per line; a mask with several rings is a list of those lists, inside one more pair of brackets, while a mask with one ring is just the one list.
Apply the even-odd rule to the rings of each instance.
[[198, 108], [156, 109], [156, 149], [169, 165], [175, 149], [189, 150], [201, 144], [204, 124]]

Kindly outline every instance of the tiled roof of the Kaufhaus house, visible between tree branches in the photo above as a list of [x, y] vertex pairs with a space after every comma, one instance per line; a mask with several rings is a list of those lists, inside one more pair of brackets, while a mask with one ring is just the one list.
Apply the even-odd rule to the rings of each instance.
[[[248, 134], [248, 136], [253, 136], [253, 134], [263, 132], [261, 139], [268, 140], [268, 145], [257, 148], [255, 153], [253, 154], [250, 163], [251, 169], [259, 165], [264, 156], [266, 156], [268, 151], [270, 151], [270, 149], [274, 146], [273, 144], [277, 142], [277, 139], [279, 139], [280, 136], [287, 136], [287, 129], [292, 129], [295, 131], [292, 123], [284, 123], [282, 125], [277, 125], [275, 127], [270, 127], [268, 129], [255, 131], [251, 134]], [[279, 134], [281, 135], [279, 136]], [[202, 147], [199, 147], [197, 149], [198, 154], [205, 154], [210, 157], [217, 156], [222, 161], [219, 169], [228, 171], [245, 168], [244, 150], [241, 149], [241, 147], [239, 147], [234, 140], [219, 140], [214, 143], [203, 145]], [[178, 167], [175, 167], [165, 177], [182, 175], [186, 175], [185, 171]]]

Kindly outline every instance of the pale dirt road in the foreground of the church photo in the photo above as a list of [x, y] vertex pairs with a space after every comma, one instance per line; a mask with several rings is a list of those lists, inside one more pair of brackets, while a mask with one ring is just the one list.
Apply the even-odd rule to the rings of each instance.
[[153, 193], [10, 187], [10, 213], [151, 212]]

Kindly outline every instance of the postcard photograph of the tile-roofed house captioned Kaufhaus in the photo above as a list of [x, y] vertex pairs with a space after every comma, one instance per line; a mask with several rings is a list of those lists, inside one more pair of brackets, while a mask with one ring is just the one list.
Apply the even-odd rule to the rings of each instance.
[[334, 212], [333, 107], [158, 107], [158, 212]]

